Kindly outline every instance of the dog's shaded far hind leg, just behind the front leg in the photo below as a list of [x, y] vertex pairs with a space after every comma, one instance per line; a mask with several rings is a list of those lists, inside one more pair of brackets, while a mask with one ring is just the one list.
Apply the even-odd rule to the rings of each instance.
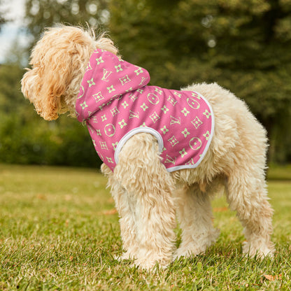
[[210, 197], [199, 185], [184, 186], [175, 192], [177, 215], [182, 229], [181, 243], [174, 258], [204, 253], [218, 237], [213, 228]]

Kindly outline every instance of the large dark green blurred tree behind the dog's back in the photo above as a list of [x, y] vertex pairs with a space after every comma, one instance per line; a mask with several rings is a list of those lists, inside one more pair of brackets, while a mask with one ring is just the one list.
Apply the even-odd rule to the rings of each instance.
[[267, 128], [270, 159], [290, 156], [290, 0], [111, 0], [109, 10], [121, 54], [153, 84], [227, 87]]

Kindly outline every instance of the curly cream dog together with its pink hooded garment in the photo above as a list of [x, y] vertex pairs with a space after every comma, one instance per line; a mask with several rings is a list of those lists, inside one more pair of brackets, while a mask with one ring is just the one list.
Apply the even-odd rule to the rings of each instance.
[[148, 86], [148, 71], [122, 60], [110, 38], [80, 27], [46, 29], [30, 65], [21, 81], [24, 97], [45, 120], [68, 113], [85, 122], [104, 161], [120, 215], [120, 260], [153, 269], [204, 253], [219, 234], [211, 197], [223, 190], [244, 228], [243, 253], [274, 254], [267, 135], [234, 94], [216, 83], [181, 91]]

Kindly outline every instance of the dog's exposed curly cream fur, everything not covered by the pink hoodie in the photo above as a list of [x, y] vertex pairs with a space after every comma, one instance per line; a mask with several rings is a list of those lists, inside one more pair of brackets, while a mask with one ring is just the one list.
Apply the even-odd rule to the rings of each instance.
[[[69, 112], [75, 104], [85, 67], [95, 48], [115, 54], [113, 42], [92, 31], [60, 26], [47, 29], [32, 50], [31, 69], [22, 78], [22, 92], [46, 120]], [[225, 187], [229, 207], [244, 227], [243, 253], [274, 253], [273, 210], [264, 178], [267, 138], [246, 104], [219, 85], [185, 88], [206, 97], [215, 115], [211, 146], [197, 169], [169, 173], [159, 162], [157, 141], [136, 134], [122, 148], [114, 172], [103, 164], [115, 205], [125, 253], [136, 265], [166, 267], [173, 258], [204, 253], [218, 237], [212, 225], [211, 197]], [[182, 242], [175, 249], [176, 215]]]

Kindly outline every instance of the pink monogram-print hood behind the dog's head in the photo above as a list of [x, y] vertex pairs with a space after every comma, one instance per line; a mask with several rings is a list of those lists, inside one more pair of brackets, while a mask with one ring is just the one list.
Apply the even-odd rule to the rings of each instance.
[[146, 69], [125, 62], [106, 50], [95, 50], [87, 64], [76, 101], [78, 121], [88, 120], [113, 99], [138, 90], [149, 82], [150, 74]]

